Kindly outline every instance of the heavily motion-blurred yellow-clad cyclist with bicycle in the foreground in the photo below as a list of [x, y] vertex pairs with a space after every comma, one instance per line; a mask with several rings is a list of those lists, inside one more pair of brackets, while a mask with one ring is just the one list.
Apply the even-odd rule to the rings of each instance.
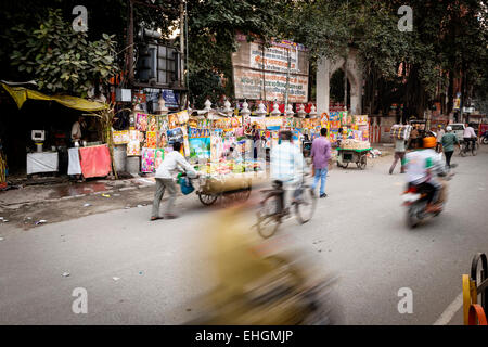
[[343, 323], [334, 273], [287, 236], [265, 242], [249, 232], [256, 203], [252, 197], [209, 220], [213, 288], [190, 303], [198, 317], [187, 324]]

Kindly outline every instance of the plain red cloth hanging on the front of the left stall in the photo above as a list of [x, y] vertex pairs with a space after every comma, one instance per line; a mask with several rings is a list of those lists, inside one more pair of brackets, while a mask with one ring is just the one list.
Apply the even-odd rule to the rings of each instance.
[[85, 178], [105, 177], [112, 171], [111, 153], [106, 144], [79, 149], [79, 164]]

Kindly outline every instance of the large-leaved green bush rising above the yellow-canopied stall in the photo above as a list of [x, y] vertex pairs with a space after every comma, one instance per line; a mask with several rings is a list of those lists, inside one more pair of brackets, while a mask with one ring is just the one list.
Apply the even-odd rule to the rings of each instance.
[[12, 65], [41, 90], [86, 97], [95, 82], [106, 83], [118, 70], [113, 36], [89, 41], [86, 33], [74, 31], [63, 21], [60, 10], [50, 11], [34, 31], [24, 25], [13, 31], [21, 39], [10, 56]]

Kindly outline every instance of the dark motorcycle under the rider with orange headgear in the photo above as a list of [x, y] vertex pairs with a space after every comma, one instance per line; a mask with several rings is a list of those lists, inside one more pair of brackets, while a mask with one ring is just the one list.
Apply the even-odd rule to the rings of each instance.
[[427, 211], [427, 195], [423, 185], [409, 184], [407, 190], [402, 193], [403, 206], [407, 207], [407, 226], [410, 229], [416, 228], [423, 220], [432, 217], [437, 217], [446, 205], [447, 197], [447, 181], [451, 180], [453, 174], [439, 175], [442, 188], [439, 192], [437, 206], [440, 207], [438, 211]]

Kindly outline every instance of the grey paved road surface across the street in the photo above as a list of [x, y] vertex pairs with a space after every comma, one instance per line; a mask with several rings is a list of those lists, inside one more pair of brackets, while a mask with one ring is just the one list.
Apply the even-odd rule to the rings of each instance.
[[[365, 171], [334, 168], [330, 196], [320, 200], [313, 220], [300, 228], [290, 220], [282, 234], [339, 274], [347, 323], [433, 324], [442, 317], [442, 323], [462, 324], [453, 303], [461, 274], [476, 252], [488, 253], [488, 147], [477, 157], [454, 156], [459, 167], [446, 210], [416, 230], [404, 227], [403, 176], [387, 175], [390, 159]], [[179, 204], [177, 220], [150, 222], [150, 208], [27, 231], [0, 224], [0, 324], [178, 324], [191, 318], [190, 299], [211, 285], [202, 249], [214, 214], [196, 197]], [[88, 314], [72, 311], [76, 287], [88, 291]], [[401, 287], [412, 290], [411, 314], [397, 310]]]

